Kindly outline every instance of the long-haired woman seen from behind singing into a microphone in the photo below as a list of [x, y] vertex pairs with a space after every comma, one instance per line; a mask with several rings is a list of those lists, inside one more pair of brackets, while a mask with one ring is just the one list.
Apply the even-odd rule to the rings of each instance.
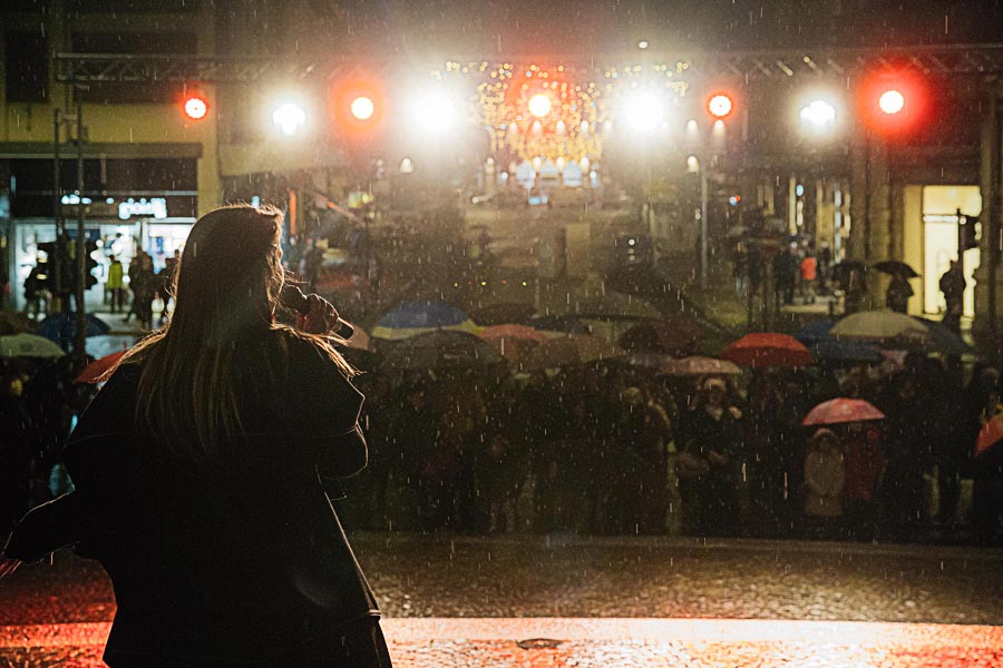
[[108, 571], [119, 666], [389, 666], [379, 609], [323, 480], [364, 468], [362, 395], [308, 296], [274, 324], [282, 215], [198, 219], [171, 322], [136, 345], [82, 415], [76, 490], [29, 513], [0, 562], [74, 544]]

